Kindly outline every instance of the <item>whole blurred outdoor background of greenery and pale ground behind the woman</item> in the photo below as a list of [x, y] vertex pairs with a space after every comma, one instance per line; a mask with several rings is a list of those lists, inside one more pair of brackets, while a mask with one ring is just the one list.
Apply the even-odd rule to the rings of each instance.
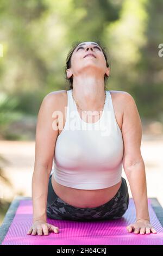
[[100, 40], [107, 89], [134, 97], [148, 197], [163, 206], [162, 13], [161, 0], [1, 0], [0, 224], [17, 195], [31, 196], [37, 114], [46, 94], [69, 88], [65, 60], [75, 41]]

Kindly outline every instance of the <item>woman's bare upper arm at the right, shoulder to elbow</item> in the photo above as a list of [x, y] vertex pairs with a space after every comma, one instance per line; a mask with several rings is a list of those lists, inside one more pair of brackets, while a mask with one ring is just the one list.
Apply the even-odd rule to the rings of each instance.
[[123, 101], [122, 136], [124, 143], [123, 167], [125, 170], [125, 168], [142, 161], [140, 149], [142, 125], [133, 97], [126, 93], [123, 95]]

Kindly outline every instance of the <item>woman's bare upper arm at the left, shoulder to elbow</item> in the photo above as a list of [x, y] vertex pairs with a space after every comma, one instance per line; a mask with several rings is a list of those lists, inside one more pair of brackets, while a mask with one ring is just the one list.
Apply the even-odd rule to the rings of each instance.
[[53, 165], [55, 142], [58, 136], [57, 118], [53, 117], [58, 110], [58, 94], [47, 94], [41, 103], [37, 116], [35, 136], [35, 165], [48, 168]]

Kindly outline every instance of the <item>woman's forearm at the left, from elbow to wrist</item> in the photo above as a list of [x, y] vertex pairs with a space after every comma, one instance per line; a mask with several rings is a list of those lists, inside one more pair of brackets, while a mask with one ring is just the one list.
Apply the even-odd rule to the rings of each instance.
[[46, 167], [35, 166], [32, 177], [33, 221], [47, 220], [47, 192], [49, 172]]

